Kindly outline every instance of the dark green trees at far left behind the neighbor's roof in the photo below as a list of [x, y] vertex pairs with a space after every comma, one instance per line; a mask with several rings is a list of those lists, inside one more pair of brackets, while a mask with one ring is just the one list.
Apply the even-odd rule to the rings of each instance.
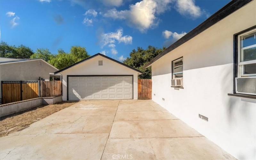
[[30, 58], [34, 52], [24, 45], [16, 47], [15, 45], [8, 45], [6, 42], [0, 43], [0, 57], [6, 58]]

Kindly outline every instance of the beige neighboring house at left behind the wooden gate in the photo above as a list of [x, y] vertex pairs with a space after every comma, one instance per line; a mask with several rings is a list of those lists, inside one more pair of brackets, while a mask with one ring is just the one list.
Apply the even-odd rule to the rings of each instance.
[[[9, 59], [0, 57], [0, 81], [50, 80], [58, 69], [42, 59]], [[0, 98], [2, 97], [0, 87]]]

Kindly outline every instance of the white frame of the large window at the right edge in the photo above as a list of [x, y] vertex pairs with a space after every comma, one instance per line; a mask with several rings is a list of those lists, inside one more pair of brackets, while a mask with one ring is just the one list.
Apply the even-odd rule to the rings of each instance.
[[[244, 48], [240, 48], [240, 37], [247, 35], [248, 33], [251, 32], [256, 32], [256, 28], [252, 28], [248, 31], [245, 31], [243, 33], [240, 33], [237, 35], [237, 60], [238, 60], [238, 64], [237, 64], [237, 71], [238, 71], [238, 75], [237, 77], [250, 77], [250, 76], [256, 76], [256, 74], [244, 74], [244, 65], [246, 64], [254, 64], [256, 63], [256, 60], [248, 60], [248, 61], [242, 61], [240, 62], [240, 58], [241, 58], [241, 51], [244, 51], [244, 49], [248, 49], [248, 48], [252, 48], [252, 47], [256, 47], [256, 44], [250, 45], [250, 46], [246, 46]], [[244, 52], [242, 52], [242, 54], [244, 54]]]

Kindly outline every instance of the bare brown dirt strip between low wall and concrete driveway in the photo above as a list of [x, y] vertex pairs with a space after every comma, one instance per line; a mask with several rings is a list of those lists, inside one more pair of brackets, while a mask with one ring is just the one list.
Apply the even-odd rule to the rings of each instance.
[[39, 121], [51, 114], [67, 108], [76, 102], [63, 101], [57, 104], [42, 105], [25, 111], [0, 118], [0, 137], [6, 136], [28, 127], [30, 124]]

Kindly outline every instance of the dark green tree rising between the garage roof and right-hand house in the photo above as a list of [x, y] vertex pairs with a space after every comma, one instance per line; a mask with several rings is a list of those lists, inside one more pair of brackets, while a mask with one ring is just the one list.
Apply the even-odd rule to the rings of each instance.
[[143, 69], [142, 67], [154, 57], [156, 57], [159, 53], [164, 51], [164, 49], [164, 47], [156, 48], [151, 45], [149, 45], [146, 50], [141, 47], [137, 47], [137, 50], [132, 50], [130, 57], [124, 60], [123, 63], [143, 71], [144, 73], [138, 76], [139, 79], [151, 79], [151, 67], [146, 69]]

